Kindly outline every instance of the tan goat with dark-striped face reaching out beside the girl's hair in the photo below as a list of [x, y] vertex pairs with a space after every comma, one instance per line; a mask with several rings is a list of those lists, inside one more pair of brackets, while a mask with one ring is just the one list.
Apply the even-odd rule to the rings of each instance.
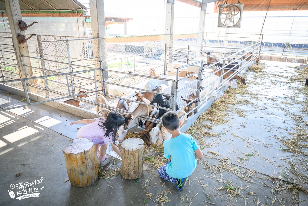
[[[148, 99], [142, 98], [140, 99], [140, 102], [144, 103], [150, 103]], [[128, 130], [128, 127], [133, 124], [135, 119], [138, 119], [138, 116], [149, 116], [149, 114], [152, 111], [152, 107], [144, 105], [144, 104], [139, 104], [138, 107], [132, 112], [132, 114], [125, 114], [124, 116], [124, 130]], [[139, 122], [139, 119], [138, 119]]]

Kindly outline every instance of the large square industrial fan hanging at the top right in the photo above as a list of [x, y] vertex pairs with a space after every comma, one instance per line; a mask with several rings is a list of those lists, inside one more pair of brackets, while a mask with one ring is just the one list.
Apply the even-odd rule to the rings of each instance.
[[241, 27], [243, 3], [219, 4], [218, 27]]

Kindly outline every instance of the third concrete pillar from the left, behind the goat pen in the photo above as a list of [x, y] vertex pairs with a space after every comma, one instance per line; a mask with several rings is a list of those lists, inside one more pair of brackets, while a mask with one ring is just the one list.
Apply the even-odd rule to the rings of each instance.
[[173, 43], [173, 19], [174, 19], [174, 0], [167, 0], [166, 22], [165, 22], [165, 42], [167, 47], [172, 47]]

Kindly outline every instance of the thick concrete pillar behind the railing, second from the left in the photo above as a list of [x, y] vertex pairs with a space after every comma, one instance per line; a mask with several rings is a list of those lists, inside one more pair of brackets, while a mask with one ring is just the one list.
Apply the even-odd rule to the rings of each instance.
[[[105, 27], [105, 10], [104, 0], [90, 0], [91, 12], [91, 31], [93, 38], [106, 38]], [[100, 61], [107, 60], [107, 43], [106, 39], [92, 40], [93, 44], [93, 57], [100, 57]], [[95, 67], [100, 67], [99, 65]], [[101, 67], [107, 69], [107, 62], [102, 62]], [[103, 76], [105, 81], [108, 80], [108, 72], [104, 71]], [[96, 79], [100, 79], [100, 71], [96, 71]], [[106, 90], [107, 90], [106, 85]]]

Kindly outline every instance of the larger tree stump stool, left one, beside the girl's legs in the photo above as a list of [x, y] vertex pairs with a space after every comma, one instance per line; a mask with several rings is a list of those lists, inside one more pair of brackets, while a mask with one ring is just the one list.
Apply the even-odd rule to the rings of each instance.
[[63, 149], [63, 154], [71, 185], [87, 187], [98, 179], [100, 162], [91, 140], [75, 139]]

